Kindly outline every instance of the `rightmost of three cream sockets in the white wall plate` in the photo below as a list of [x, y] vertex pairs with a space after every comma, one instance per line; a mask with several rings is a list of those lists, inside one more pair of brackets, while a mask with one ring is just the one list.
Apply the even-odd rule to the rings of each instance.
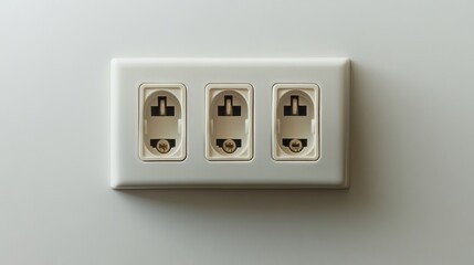
[[319, 158], [319, 86], [273, 86], [272, 155], [275, 160], [309, 161]]

